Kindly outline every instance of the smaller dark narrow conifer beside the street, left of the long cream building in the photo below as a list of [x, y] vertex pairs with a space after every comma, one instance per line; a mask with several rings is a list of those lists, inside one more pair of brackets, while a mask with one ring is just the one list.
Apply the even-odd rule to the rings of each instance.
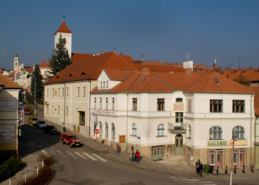
[[39, 65], [37, 64], [31, 75], [31, 93], [34, 96], [35, 94], [35, 81], [36, 81], [36, 97], [42, 98], [44, 87], [43, 87], [43, 75], [41, 74], [41, 70]]

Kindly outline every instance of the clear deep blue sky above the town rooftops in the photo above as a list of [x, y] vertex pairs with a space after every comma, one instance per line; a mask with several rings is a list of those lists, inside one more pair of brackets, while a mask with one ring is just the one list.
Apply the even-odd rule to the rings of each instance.
[[0, 68], [48, 62], [63, 11], [72, 53], [259, 67], [259, 0], [1, 0]]

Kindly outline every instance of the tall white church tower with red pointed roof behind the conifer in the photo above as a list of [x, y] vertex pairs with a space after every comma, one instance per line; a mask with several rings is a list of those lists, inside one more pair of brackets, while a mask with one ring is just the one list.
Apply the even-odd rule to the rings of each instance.
[[69, 30], [69, 28], [67, 27], [64, 18], [65, 18], [65, 16], [63, 16], [63, 22], [62, 22], [61, 26], [54, 33], [54, 36], [55, 36], [54, 47], [56, 48], [56, 43], [58, 43], [59, 35], [61, 34], [61, 37], [63, 39], [63, 44], [65, 44], [65, 47], [66, 47], [66, 49], [68, 51], [68, 54], [69, 54], [69, 56], [71, 58], [71, 53], [72, 53], [72, 34], [73, 34], [73, 32], [71, 30]]

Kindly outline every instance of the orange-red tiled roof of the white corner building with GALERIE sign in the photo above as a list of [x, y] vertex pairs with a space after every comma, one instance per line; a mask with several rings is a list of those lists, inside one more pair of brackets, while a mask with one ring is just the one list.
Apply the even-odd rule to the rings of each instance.
[[[111, 73], [113, 69], [109, 70], [109, 72]], [[116, 72], [119, 73], [118, 70], [113, 70], [112, 74]], [[129, 71], [124, 72], [129, 73]], [[217, 84], [215, 82], [215, 79], [218, 79], [218, 82], [220, 84]], [[228, 79], [214, 71], [193, 72], [190, 75], [184, 72], [149, 72], [147, 75], [143, 75], [143, 73], [140, 71], [132, 71], [132, 73], [130, 73], [124, 81], [122, 81], [115, 87], [107, 91], [98, 91], [98, 89], [95, 88], [91, 92], [173, 92], [176, 90], [182, 90], [185, 92], [255, 94], [255, 92], [250, 88], [231, 79]]]

